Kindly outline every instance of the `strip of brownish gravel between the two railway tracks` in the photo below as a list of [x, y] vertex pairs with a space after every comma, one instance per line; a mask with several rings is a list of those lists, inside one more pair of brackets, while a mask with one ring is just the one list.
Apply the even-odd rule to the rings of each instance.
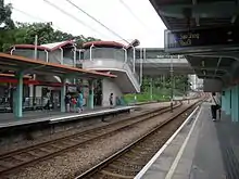
[[[188, 105], [189, 104], [184, 104], [184, 106]], [[178, 108], [175, 111], [178, 111]], [[8, 177], [12, 179], [74, 178], [75, 174], [79, 174], [96, 165], [172, 115], [173, 114], [169, 113], [162, 114], [160, 117], [138, 124], [105, 139], [81, 145], [74, 152], [68, 152], [52, 159], [38, 163], [36, 166], [27, 167]]]

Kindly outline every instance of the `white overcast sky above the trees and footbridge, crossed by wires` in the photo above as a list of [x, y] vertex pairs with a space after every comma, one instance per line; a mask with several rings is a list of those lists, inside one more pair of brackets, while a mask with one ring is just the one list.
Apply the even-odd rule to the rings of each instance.
[[[14, 21], [52, 22], [54, 28], [73, 35], [122, 41], [121, 38], [111, 34], [65, 0], [48, 1], [64, 9], [75, 18], [90, 26], [91, 29], [52, 8], [43, 0], [5, 0], [5, 3], [11, 2], [13, 8], [15, 8], [12, 14]], [[136, 17], [131, 15], [121, 1], [129, 7]], [[140, 47], [147, 48], [163, 48], [164, 46], [165, 26], [149, 0], [72, 0], [72, 2], [128, 41], [139, 39]], [[26, 12], [28, 15], [18, 10]]]

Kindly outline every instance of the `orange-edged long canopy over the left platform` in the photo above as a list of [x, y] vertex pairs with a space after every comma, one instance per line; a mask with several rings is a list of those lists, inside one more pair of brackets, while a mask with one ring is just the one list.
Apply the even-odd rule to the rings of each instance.
[[0, 53], [0, 67], [2, 71], [24, 72], [24, 74], [41, 74], [49, 76], [59, 76], [66, 78], [115, 78], [115, 75], [99, 73], [95, 71], [87, 71], [66, 65], [48, 63], [40, 60], [34, 60], [17, 55], [10, 55]]

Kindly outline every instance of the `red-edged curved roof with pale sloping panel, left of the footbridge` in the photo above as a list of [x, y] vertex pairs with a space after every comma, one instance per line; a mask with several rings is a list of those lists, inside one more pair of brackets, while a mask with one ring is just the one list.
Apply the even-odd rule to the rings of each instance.
[[[41, 44], [37, 46], [38, 50], [47, 50], [47, 51], [54, 51], [58, 50], [59, 48], [68, 46], [68, 44], [74, 44], [73, 41], [67, 40], [67, 41], [61, 41], [61, 42], [54, 42], [54, 43], [47, 43], [47, 44]], [[34, 44], [14, 44], [11, 47], [12, 48], [20, 48], [20, 49], [35, 49]]]

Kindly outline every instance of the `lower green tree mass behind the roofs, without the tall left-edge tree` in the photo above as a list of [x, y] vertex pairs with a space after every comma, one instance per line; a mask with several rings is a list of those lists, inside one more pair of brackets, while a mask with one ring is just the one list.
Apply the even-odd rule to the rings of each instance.
[[61, 30], [54, 30], [51, 23], [15, 23], [15, 28], [8, 30], [1, 43], [0, 50], [8, 51], [13, 44], [34, 44], [35, 36], [38, 35], [38, 44], [51, 43], [65, 40], [74, 40], [77, 47], [87, 41], [95, 41], [92, 37], [73, 36]]

